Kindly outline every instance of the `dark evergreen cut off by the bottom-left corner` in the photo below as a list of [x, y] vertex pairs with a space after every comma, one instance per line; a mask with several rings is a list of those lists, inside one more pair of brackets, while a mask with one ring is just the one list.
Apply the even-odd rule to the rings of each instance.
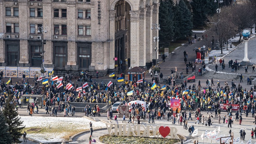
[[0, 143], [11, 144], [13, 142], [10, 133], [8, 132], [8, 126], [6, 125], [5, 116], [0, 112]]

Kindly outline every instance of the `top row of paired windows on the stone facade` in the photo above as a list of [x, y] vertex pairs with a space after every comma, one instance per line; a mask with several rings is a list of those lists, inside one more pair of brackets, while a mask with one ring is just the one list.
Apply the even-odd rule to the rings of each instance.
[[[43, 9], [42, 8], [29, 8], [30, 11], [30, 17], [43, 17]], [[85, 11], [85, 18], [86, 19], [91, 19], [91, 9], [78, 9], [77, 10], [77, 18], [83, 18], [83, 14]], [[37, 14], [36, 14], [37, 12]], [[11, 16], [11, 7], [6, 7], [5, 8], [5, 14], [6, 16]], [[13, 8], [13, 16], [19, 16], [19, 8], [14, 7]], [[53, 9], [53, 17], [62, 17], [66, 18], [67, 17], [67, 9]]]

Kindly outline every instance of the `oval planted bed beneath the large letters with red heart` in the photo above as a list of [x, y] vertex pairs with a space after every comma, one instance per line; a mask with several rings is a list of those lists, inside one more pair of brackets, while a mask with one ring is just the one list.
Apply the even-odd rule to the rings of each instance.
[[[134, 131], [135, 134], [136, 131]], [[141, 131], [140, 134], [142, 135], [143, 132]], [[150, 131], [150, 135], [153, 135], [153, 132]], [[158, 135], [158, 132], [157, 132]], [[170, 134], [168, 135], [170, 136]], [[106, 144], [131, 144], [131, 143], [168, 143], [168, 144], [174, 144], [177, 142], [180, 142], [179, 139], [171, 139], [168, 138], [155, 138], [155, 137], [134, 137], [131, 134], [129, 136], [115, 136], [115, 135], [103, 135], [99, 137], [99, 140], [101, 142], [104, 142]], [[183, 138], [181, 135], [178, 135], [180, 138]]]

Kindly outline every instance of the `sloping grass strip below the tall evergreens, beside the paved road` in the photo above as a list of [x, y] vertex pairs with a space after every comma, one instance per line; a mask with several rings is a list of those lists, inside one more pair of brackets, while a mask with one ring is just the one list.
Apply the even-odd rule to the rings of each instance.
[[166, 43], [165, 45], [161, 46], [159, 49], [159, 54], [163, 54], [164, 53], [164, 48], [165, 47], [169, 47], [169, 53], [173, 52], [175, 48], [182, 46], [181, 44], [185, 44], [188, 42], [188, 38], [186, 37], [184, 39], [177, 39], [175, 42], [170, 42], [170, 45], [168, 45], [168, 43]]

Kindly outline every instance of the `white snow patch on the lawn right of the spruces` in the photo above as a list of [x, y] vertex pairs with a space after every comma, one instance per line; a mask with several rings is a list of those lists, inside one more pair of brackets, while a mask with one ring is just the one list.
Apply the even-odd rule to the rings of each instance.
[[[85, 117], [30, 117], [30, 116], [22, 116], [21, 121], [23, 121], [23, 125], [26, 128], [29, 127], [38, 127], [38, 128], [51, 128], [51, 127], [59, 127], [63, 129], [63, 133], [33, 133], [30, 134], [27, 132], [27, 136], [38, 140], [40, 142], [55, 142], [55, 141], [64, 141], [62, 138], [67, 133], [65, 133], [65, 128], [67, 127], [74, 127], [78, 130], [89, 130], [90, 119]], [[106, 124], [103, 122], [95, 122], [93, 121], [93, 129], [104, 128]]]

